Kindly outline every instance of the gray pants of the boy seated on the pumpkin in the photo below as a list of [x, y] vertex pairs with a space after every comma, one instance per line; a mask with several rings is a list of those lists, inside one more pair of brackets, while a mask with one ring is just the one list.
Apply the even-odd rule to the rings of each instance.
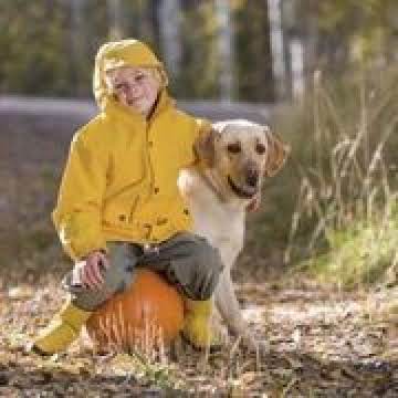
[[180, 232], [156, 247], [109, 242], [111, 266], [104, 270], [100, 290], [72, 284], [72, 272], [62, 281], [72, 294], [72, 303], [85, 311], [94, 311], [115, 293], [123, 292], [134, 281], [136, 266], [145, 266], [163, 274], [182, 294], [192, 300], [208, 300], [212, 295], [223, 269], [219, 250], [201, 237]]

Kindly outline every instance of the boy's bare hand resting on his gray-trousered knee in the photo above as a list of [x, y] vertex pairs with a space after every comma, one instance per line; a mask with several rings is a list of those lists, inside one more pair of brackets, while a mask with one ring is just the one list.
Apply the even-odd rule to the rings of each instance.
[[93, 251], [83, 261], [75, 264], [74, 280], [87, 289], [101, 289], [104, 283], [103, 271], [109, 268], [107, 255], [98, 250]]

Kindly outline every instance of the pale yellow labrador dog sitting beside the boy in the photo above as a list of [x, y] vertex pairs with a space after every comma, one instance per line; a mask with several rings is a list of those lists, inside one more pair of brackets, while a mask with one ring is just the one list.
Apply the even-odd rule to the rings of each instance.
[[195, 232], [219, 248], [224, 263], [216, 308], [230, 332], [256, 349], [239, 307], [231, 269], [243, 248], [247, 208], [260, 202], [263, 178], [282, 167], [287, 147], [269, 127], [233, 119], [213, 124], [195, 149], [205, 167], [182, 170], [178, 185], [190, 207]]

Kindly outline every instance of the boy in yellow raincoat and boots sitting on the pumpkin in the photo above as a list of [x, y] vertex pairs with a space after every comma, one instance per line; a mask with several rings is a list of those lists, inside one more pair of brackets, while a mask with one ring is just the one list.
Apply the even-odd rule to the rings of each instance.
[[211, 341], [210, 297], [222, 262], [177, 188], [181, 168], [198, 163], [193, 143], [208, 123], [178, 111], [163, 64], [144, 43], [103, 45], [95, 60], [101, 113], [74, 136], [53, 221], [75, 261], [64, 277], [64, 307], [32, 350], [65, 349], [92, 312], [134, 283], [134, 268], [160, 272], [182, 292], [182, 335], [196, 347]]

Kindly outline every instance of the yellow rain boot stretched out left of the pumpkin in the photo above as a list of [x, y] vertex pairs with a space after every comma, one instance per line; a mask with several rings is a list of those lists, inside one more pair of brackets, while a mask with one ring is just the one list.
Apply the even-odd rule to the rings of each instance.
[[91, 314], [92, 312], [81, 310], [67, 302], [50, 325], [40, 333], [31, 350], [41, 355], [52, 355], [66, 349], [78, 337], [82, 326]]

